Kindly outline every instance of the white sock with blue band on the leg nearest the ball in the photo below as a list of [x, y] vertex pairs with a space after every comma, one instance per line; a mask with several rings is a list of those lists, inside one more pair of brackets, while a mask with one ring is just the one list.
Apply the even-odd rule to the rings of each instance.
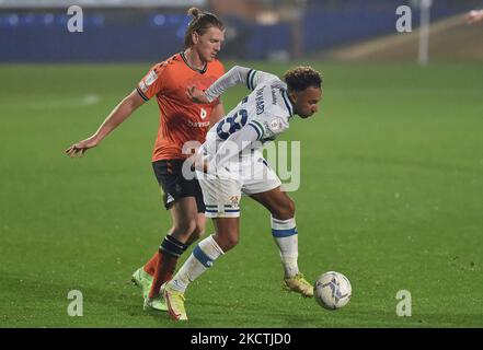
[[295, 218], [278, 220], [272, 217], [272, 235], [280, 250], [285, 278], [296, 276], [299, 273], [299, 266], [297, 264], [299, 257], [299, 235]]

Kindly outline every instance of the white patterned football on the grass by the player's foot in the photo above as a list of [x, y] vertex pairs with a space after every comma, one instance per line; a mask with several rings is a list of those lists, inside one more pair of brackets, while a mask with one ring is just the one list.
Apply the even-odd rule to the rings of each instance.
[[315, 281], [313, 295], [324, 308], [336, 310], [345, 306], [352, 296], [350, 282], [341, 272], [329, 271]]

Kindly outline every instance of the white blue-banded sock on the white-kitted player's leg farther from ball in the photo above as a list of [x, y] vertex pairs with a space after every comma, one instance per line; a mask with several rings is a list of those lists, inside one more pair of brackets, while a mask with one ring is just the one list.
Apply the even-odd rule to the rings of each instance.
[[169, 282], [170, 287], [184, 293], [187, 285], [211, 267], [212, 262], [222, 254], [223, 250], [212, 236], [206, 237], [193, 249], [192, 255]]

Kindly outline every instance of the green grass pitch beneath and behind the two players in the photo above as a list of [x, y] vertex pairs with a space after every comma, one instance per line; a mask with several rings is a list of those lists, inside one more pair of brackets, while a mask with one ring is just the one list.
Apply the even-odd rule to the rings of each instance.
[[[156, 102], [83, 159], [64, 150], [150, 63], [0, 66], [0, 327], [482, 327], [482, 66], [311, 63], [320, 113], [281, 138], [301, 141], [299, 265], [312, 281], [345, 273], [346, 307], [281, 290], [269, 214], [245, 198], [239, 246], [188, 289], [189, 322], [142, 311], [130, 276], [171, 223], [150, 165]], [[70, 290], [82, 317], [67, 313]]]

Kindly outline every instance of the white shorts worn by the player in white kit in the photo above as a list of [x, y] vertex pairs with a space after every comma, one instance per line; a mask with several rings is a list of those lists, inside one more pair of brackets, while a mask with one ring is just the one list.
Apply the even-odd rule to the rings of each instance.
[[260, 152], [229, 161], [217, 171], [217, 175], [196, 172], [207, 218], [240, 217], [242, 195], [261, 194], [281, 185]]

